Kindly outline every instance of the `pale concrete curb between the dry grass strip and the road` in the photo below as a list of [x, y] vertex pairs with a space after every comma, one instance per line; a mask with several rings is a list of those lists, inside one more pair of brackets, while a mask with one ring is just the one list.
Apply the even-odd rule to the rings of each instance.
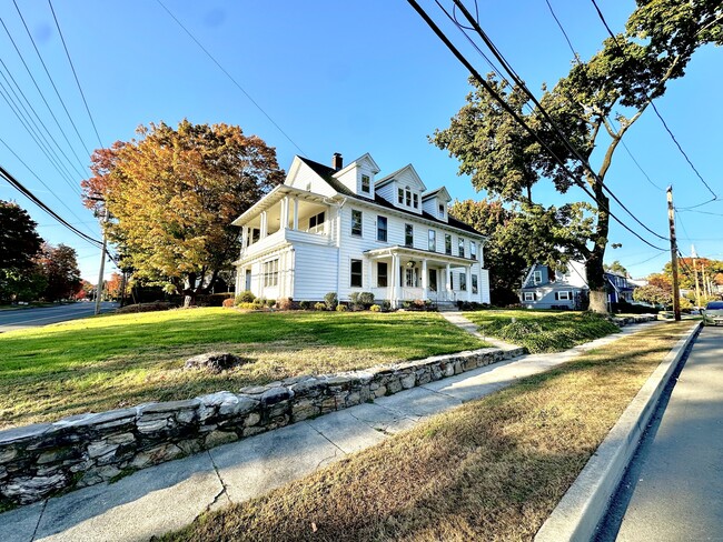
[[537, 531], [535, 542], [593, 540], [663, 390], [701, 328], [702, 323], [695, 325], [657, 365]]

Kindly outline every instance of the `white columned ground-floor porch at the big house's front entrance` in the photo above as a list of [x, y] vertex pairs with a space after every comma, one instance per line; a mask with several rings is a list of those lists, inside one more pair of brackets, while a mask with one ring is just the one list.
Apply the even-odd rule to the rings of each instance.
[[[482, 302], [476, 259], [439, 254], [408, 247], [389, 247], [365, 253], [370, 265], [370, 291], [375, 299], [399, 308], [404, 301], [435, 303]], [[456, 280], [455, 280], [456, 278]]]

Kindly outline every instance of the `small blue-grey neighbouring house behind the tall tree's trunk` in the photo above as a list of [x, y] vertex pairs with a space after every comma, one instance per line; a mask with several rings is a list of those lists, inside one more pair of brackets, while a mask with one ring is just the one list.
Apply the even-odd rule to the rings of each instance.
[[580, 309], [588, 290], [583, 262], [571, 261], [564, 271], [535, 263], [522, 281], [519, 302], [527, 309]]

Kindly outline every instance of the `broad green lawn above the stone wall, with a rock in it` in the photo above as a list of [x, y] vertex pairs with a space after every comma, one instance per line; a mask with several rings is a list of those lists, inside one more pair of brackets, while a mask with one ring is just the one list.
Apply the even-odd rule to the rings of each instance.
[[[75, 320], [0, 334], [0, 429], [484, 345], [422, 312], [209, 308]], [[221, 374], [182, 369], [217, 350], [249, 363]]]

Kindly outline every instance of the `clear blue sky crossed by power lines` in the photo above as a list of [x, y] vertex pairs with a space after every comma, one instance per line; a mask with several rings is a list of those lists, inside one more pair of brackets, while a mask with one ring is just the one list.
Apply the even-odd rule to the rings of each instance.
[[[0, 0], [0, 17], [16, 40], [50, 108], [72, 145], [73, 157], [23, 68], [4, 29], [0, 58], [23, 89], [48, 129], [76, 168], [88, 164], [99, 147], [62, 50], [47, 0], [17, 0], [38, 49], [63, 98], [80, 138], [42, 70], [12, 0]], [[549, 0], [583, 59], [600, 47], [606, 32], [592, 2]], [[392, 172], [413, 163], [428, 188], [445, 184], [453, 198], [483, 198], [468, 179], [457, 177], [454, 159], [427, 141], [435, 128], [448, 126], [469, 90], [467, 73], [417, 13], [403, 0], [364, 2], [278, 0], [275, 2], [164, 0], [170, 11], [206, 47], [234, 79], [274, 119], [288, 138], [221, 72], [164, 8], [153, 0], [91, 2], [55, 0], [52, 6], [105, 145], [133, 137], [138, 124], [165, 121], [239, 124], [277, 149], [287, 169], [294, 154], [324, 163], [334, 152], [348, 162], [370, 152]], [[489, 67], [448, 24], [434, 2], [420, 2], [467, 58], [486, 73]], [[450, 6], [450, 0], [443, 3]], [[479, 22], [512, 66], [538, 92], [570, 69], [572, 53], [544, 0], [479, 3]], [[634, 2], [600, 0], [614, 30], [622, 29]], [[473, 2], [468, 2], [473, 7]], [[0, 72], [6, 73], [4, 68]], [[0, 81], [4, 80], [0, 77]], [[685, 78], [673, 81], [658, 110], [683, 149], [713, 190], [723, 198], [720, 173], [723, 111], [723, 51], [701, 49]], [[1, 88], [1, 87], [0, 87]], [[44, 188], [3, 144], [0, 163], [66, 220], [96, 238], [92, 213], [71, 188], [88, 170], [70, 169], [63, 180], [0, 98], [0, 138], [50, 188]], [[85, 141], [85, 144], [80, 142]], [[679, 153], [660, 121], [648, 111], [627, 134], [627, 147], [653, 183], [673, 184], [679, 208], [710, 199], [710, 193]], [[298, 148], [297, 148], [298, 145]], [[299, 148], [301, 149], [299, 151]], [[595, 165], [595, 161], [593, 161]], [[652, 230], [666, 234], [664, 191], [648, 182], [624, 149], [618, 149], [607, 184]], [[584, 199], [573, 191], [561, 198], [542, 181], [535, 197], [543, 203]], [[77, 249], [83, 278], [96, 282], [99, 251], [77, 238], [0, 183], [0, 199], [28, 209], [47, 241]], [[694, 212], [702, 211], [702, 212]], [[723, 202], [684, 211], [677, 217], [679, 245], [690, 254], [723, 259]], [[615, 212], [653, 244], [666, 248], [630, 217]], [[709, 214], [714, 213], [714, 214]], [[606, 261], [620, 260], [635, 277], [658, 271], [668, 253], [645, 245], [617, 224]], [[113, 271], [107, 267], [107, 275]]]

